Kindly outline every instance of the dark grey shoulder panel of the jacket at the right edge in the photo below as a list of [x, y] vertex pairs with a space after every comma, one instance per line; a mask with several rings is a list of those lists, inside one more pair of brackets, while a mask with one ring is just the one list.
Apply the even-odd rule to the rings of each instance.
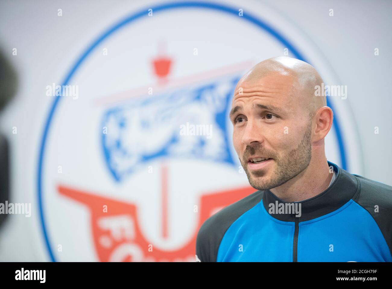
[[353, 199], [369, 212], [380, 228], [392, 255], [392, 187], [354, 175], [360, 190]]

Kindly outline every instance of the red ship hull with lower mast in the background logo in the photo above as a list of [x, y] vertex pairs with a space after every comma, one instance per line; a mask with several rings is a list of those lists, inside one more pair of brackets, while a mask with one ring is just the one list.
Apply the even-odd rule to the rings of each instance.
[[[198, 207], [197, 230], [183, 247], [174, 251], [158, 249], [142, 234], [138, 219], [138, 208], [132, 203], [98, 196], [64, 185], [58, 192], [87, 206], [91, 213], [91, 228], [94, 245], [101, 262], [184, 262], [195, 261], [196, 236], [203, 222], [218, 210], [242, 198], [254, 188], [243, 187], [204, 194]], [[167, 236], [167, 168], [162, 168], [163, 236]], [[103, 205], [107, 205], [104, 212]], [[152, 248], [150, 251], [149, 248]]]

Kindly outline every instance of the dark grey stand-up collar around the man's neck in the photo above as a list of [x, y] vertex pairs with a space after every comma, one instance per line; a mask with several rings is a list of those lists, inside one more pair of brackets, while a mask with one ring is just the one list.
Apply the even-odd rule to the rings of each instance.
[[[355, 176], [339, 168], [334, 163], [328, 161], [329, 166], [333, 166], [337, 172], [336, 179], [325, 191], [321, 192], [313, 198], [304, 201], [288, 203], [276, 197], [270, 190], [263, 191], [263, 206], [265, 210], [273, 217], [280, 221], [308, 221], [326, 215], [334, 210], [339, 209], [350, 199], [354, 198], [358, 192], [358, 181]], [[286, 205], [287, 204], [287, 205]], [[287, 210], [273, 210], [277, 208], [288, 208], [289, 204], [292, 209], [291, 214]], [[299, 206], [299, 204], [301, 204]], [[300, 209], [300, 216], [296, 214]], [[299, 216], [299, 217], [296, 217]]]

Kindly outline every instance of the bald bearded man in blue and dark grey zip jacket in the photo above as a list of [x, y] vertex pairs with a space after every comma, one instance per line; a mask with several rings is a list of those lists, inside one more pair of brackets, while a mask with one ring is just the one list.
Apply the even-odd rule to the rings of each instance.
[[201, 226], [201, 262], [392, 262], [392, 187], [327, 161], [333, 113], [308, 63], [264, 60], [234, 91], [233, 144], [258, 190]]

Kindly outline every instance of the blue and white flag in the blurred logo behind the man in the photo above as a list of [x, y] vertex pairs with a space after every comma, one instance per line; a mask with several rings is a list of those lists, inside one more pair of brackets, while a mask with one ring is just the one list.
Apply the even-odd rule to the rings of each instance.
[[[106, 165], [121, 182], [139, 165], [162, 157], [212, 160], [234, 165], [227, 139], [227, 110], [241, 76], [221, 77], [202, 86], [142, 96], [110, 108], [100, 128]], [[205, 134], [181, 137], [185, 123], [211, 126]], [[200, 132], [205, 133], [206, 130]], [[153, 139], [153, 141], [151, 141]]]

